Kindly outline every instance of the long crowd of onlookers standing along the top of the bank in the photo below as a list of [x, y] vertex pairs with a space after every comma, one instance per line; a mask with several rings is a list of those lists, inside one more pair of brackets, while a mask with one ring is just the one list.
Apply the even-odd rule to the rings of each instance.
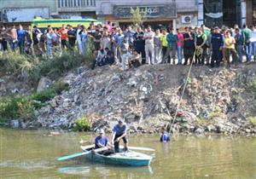
[[[93, 49], [89, 49], [89, 43], [93, 44]], [[231, 63], [237, 66], [242, 62], [256, 61], [256, 26], [208, 29], [202, 25], [154, 30], [150, 26], [127, 26], [122, 30], [111, 22], [105, 25], [91, 22], [87, 28], [83, 25], [48, 26], [44, 32], [37, 26], [32, 30], [30, 26], [26, 29], [21, 25], [17, 29], [16, 26], [2, 26], [0, 32], [0, 50], [3, 51], [19, 48], [20, 54], [46, 54], [51, 57], [53, 49], [73, 54], [75, 47], [80, 55], [93, 51], [93, 69], [115, 64], [125, 70], [143, 64], [162, 63], [218, 67], [221, 61], [229, 67]]]

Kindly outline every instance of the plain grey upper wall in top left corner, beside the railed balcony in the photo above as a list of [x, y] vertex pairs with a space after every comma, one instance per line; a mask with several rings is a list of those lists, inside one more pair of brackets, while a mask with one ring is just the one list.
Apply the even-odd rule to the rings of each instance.
[[0, 0], [0, 9], [49, 7], [50, 13], [56, 12], [55, 0]]

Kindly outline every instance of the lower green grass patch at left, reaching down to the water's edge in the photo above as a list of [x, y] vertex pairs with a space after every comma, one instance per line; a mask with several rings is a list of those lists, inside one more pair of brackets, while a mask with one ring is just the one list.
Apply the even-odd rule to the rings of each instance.
[[36, 110], [46, 106], [49, 100], [68, 90], [67, 84], [57, 82], [49, 89], [28, 96], [8, 96], [0, 98], [0, 122], [12, 119], [31, 121], [37, 118]]

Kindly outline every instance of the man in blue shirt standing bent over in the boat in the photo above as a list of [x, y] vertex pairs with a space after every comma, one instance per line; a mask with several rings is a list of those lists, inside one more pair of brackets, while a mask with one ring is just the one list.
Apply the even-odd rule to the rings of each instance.
[[119, 153], [119, 141], [123, 139], [125, 147], [124, 151], [128, 150], [128, 141], [126, 139], [127, 125], [123, 119], [119, 119], [119, 124], [113, 127], [112, 144], [114, 146], [114, 152]]

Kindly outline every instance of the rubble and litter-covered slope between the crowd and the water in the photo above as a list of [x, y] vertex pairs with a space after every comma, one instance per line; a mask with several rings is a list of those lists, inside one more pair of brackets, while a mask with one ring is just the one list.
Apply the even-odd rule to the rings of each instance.
[[[255, 115], [247, 84], [256, 66], [209, 69], [193, 66], [173, 130], [180, 132], [255, 132], [247, 117]], [[80, 68], [63, 78], [70, 90], [38, 113], [46, 128], [72, 128], [83, 115], [92, 130], [109, 130], [125, 118], [132, 131], [155, 132], [173, 120], [189, 66], [141, 66], [122, 72], [116, 66], [94, 71]]]

